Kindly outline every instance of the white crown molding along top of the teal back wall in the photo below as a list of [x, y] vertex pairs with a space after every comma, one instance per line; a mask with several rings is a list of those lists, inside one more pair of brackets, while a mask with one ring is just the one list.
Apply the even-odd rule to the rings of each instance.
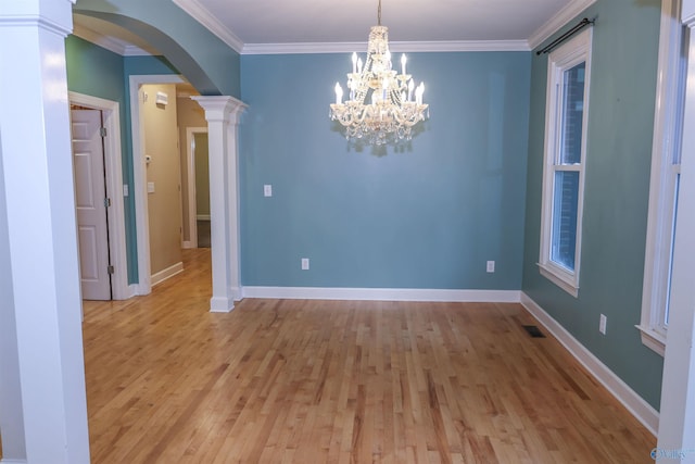
[[[241, 54], [352, 53], [365, 50], [367, 42], [247, 43]], [[529, 51], [526, 40], [450, 40], [431, 42], [389, 42], [393, 52]]]

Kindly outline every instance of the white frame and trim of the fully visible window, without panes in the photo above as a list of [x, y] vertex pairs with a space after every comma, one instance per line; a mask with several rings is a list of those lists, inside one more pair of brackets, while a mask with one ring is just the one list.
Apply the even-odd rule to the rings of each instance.
[[[579, 275], [581, 264], [582, 243], [582, 216], [584, 205], [584, 172], [586, 168], [586, 145], [589, 128], [589, 101], [591, 89], [591, 49], [593, 28], [587, 28], [574, 36], [567, 43], [557, 48], [548, 55], [547, 66], [547, 93], [545, 103], [545, 147], [543, 162], [543, 199], [541, 211], [541, 247], [539, 258], [539, 271], [542, 276], [567, 291], [574, 298], [579, 297]], [[564, 165], [561, 171], [579, 172], [579, 192], [577, 202], [577, 236], [574, 248], [574, 271], [571, 272], [564, 266], [553, 262], [552, 252], [552, 230], [553, 230], [553, 203], [554, 203], [554, 181], [555, 166], [559, 137], [559, 125], [561, 122], [561, 102], [558, 98], [558, 85], [565, 71], [585, 63], [584, 70], [584, 102], [582, 114], [582, 147], [581, 163], [577, 165]]]

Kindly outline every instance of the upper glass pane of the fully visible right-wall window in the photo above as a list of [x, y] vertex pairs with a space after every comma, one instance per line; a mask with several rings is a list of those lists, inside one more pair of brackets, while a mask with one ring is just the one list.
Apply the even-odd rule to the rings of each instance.
[[559, 164], [579, 164], [582, 162], [585, 67], [586, 63], [582, 62], [563, 73]]

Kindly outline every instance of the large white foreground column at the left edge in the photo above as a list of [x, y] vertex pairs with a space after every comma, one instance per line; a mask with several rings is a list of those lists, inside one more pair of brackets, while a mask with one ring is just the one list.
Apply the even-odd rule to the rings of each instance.
[[65, 70], [72, 4], [0, 3], [0, 291], [9, 297], [0, 325], [11, 348], [0, 356], [12, 356], [0, 373], [7, 462], [89, 463]]

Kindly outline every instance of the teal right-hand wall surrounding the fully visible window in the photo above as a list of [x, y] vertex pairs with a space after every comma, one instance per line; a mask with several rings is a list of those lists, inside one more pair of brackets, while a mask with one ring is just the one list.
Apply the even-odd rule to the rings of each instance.
[[[634, 326], [642, 304], [659, 13], [659, 0], [599, 0], [576, 20], [598, 16], [577, 299], [536, 266], [547, 55], [533, 53], [523, 258], [523, 291], [656, 409], [662, 359], [642, 344]], [[605, 336], [599, 314], [608, 317]]]

